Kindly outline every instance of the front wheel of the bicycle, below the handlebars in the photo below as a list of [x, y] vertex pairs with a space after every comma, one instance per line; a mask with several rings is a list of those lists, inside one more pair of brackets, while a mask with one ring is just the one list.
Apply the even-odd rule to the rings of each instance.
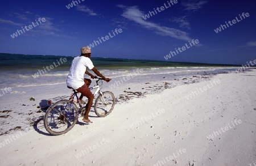
[[106, 91], [98, 95], [94, 104], [94, 111], [99, 117], [108, 116], [114, 109], [115, 96], [112, 92]]

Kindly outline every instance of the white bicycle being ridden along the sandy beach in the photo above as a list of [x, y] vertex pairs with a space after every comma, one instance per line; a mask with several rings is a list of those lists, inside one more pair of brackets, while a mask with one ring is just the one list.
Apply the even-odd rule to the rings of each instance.
[[[96, 86], [90, 87], [90, 90], [96, 89], [93, 96], [98, 94], [94, 101], [94, 112], [98, 117], [108, 116], [114, 109], [115, 96], [112, 92], [102, 92], [103, 79], [95, 77]], [[64, 99], [68, 96], [61, 96], [59, 101], [52, 104], [51, 100], [48, 100], [48, 104], [52, 104], [44, 115], [44, 127], [52, 135], [61, 135], [67, 133], [75, 126], [79, 116], [83, 117], [85, 113], [85, 107], [82, 107], [81, 101], [77, 95], [76, 90], [73, 90], [69, 99]], [[79, 109], [77, 108], [79, 107]]]

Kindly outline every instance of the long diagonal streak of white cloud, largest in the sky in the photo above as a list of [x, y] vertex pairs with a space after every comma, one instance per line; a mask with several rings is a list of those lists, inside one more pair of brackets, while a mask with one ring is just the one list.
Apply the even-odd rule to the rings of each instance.
[[123, 6], [123, 5], [118, 5], [118, 7], [123, 8], [123, 14], [122, 16], [126, 19], [129, 19], [135, 23], [138, 23], [142, 25], [142, 27], [150, 29], [155, 31], [155, 33], [162, 35], [162, 36], [170, 36], [175, 39], [180, 39], [180, 40], [191, 40], [191, 38], [188, 36], [187, 32], [180, 31], [179, 29], [175, 28], [169, 28], [169, 27], [164, 27], [160, 26], [156, 23], [148, 22], [143, 19], [143, 12], [139, 10], [137, 6]]

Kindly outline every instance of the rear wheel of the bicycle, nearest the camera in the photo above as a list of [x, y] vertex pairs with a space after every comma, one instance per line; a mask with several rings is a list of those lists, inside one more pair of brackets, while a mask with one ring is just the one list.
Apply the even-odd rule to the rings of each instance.
[[44, 127], [52, 135], [67, 133], [76, 124], [79, 111], [71, 100], [60, 100], [48, 108], [44, 116]]

